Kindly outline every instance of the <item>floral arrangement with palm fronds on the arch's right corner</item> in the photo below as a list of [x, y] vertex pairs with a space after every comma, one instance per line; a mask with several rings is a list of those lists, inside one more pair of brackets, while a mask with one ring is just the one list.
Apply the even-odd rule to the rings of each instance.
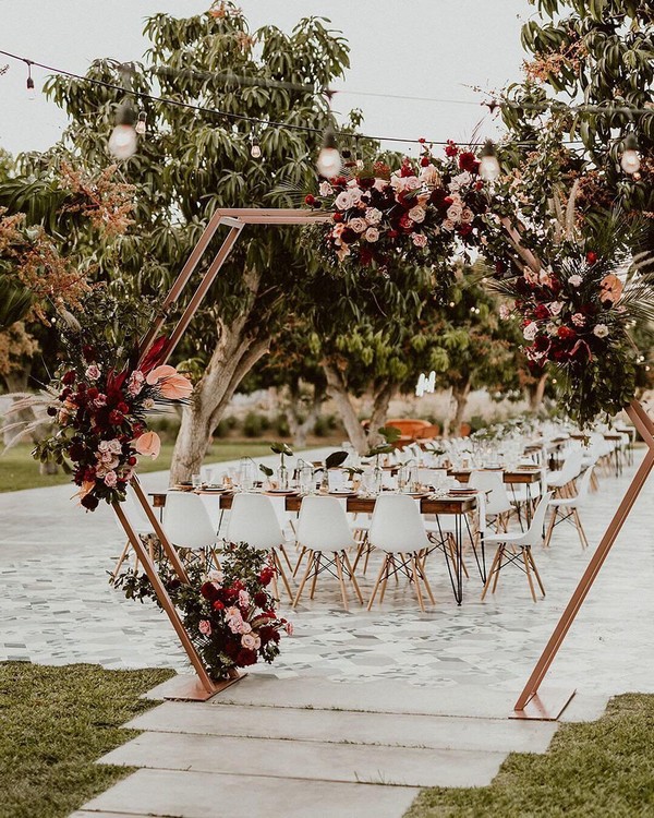
[[611, 217], [603, 239], [562, 241], [548, 265], [494, 284], [513, 300], [500, 314], [521, 321], [530, 369], [556, 368], [564, 406], [581, 426], [633, 399], [639, 350], [629, 332], [654, 317], [652, 262], [629, 254], [625, 230]]

